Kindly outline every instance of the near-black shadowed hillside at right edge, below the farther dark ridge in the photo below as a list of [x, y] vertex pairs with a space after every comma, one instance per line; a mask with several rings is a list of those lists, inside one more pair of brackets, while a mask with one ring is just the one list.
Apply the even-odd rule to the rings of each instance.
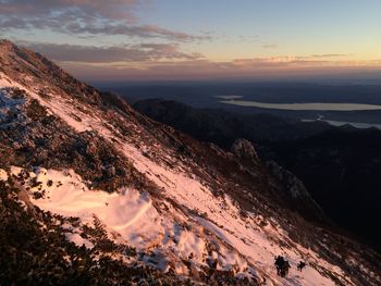
[[332, 130], [268, 144], [261, 154], [297, 174], [332, 220], [381, 250], [380, 145], [380, 130]]

